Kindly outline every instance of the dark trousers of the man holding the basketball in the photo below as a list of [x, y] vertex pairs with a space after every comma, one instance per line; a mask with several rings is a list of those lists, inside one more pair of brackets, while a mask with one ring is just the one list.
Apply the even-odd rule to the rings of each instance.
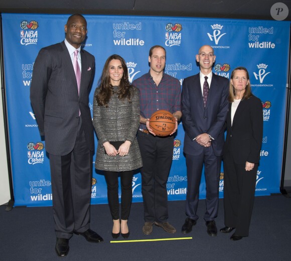
[[141, 192], [145, 222], [166, 222], [168, 215], [167, 180], [172, 165], [174, 138], [155, 137], [137, 131], [143, 167]]

